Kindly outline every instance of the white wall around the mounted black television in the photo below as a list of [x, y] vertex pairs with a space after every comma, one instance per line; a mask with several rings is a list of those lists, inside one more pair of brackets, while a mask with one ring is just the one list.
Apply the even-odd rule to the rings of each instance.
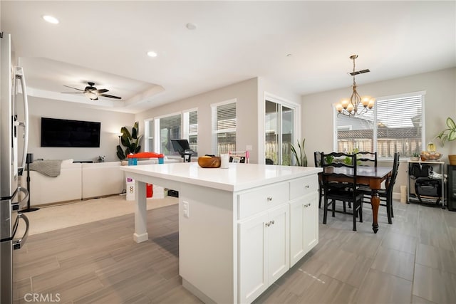
[[[106, 161], [118, 161], [115, 147], [118, 145], [120, 127], [132, 126], [135, 115], [84, 108], [84, 105], [59, 100], [46, 100], [28, 97], [29, 138], [28, 152], [35, 159], [74, 159], [95, 161], [99, 155], [105, 155]], [[86, 120], [101, 122], [99, 148], [41, 147], [41, 117], [68, 120]], [[143, 134], [143, 133], [142, 133]]]

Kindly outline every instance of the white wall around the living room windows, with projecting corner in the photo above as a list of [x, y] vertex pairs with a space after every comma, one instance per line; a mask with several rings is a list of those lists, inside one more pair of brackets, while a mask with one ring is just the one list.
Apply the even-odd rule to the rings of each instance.
[[285, 86], [272, 83], [265, 78], [252, 78], [152, 108], [136, 115], [135, 120], [140, 122], [140, 129], [144, 130], [145, 119], [197, 108], [198, 151], [200, 154], [211, 154], [213, 152], [210, 105], [236, 98], [237, 150], [244, 151], [247, 149], [247, 145], [251, 145], [250, 162], [264, 163], [264, 96], [266, 93], [296, 105], [301, 104], [301, 97], [291, 93]]

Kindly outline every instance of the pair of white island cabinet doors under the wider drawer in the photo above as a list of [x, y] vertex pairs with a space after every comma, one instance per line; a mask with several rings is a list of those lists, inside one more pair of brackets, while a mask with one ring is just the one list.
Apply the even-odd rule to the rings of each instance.
[[239, 302], [251, 303], [289, 270], [289, 204], [239, 223]]

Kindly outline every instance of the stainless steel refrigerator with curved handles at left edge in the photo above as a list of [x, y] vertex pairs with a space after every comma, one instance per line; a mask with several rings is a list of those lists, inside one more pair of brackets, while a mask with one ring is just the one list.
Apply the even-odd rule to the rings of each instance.
[[[22, 68], [11, 65], [11, 35], [0, 34], [0, 303], [8, 304], [13, 301], [14, 251], [28, 235], [28, 219], [21, 214], [28, 191], [18, 183], [26, 162], [28, 104]], [[25, 233], [16, 236], [21, 221]]]

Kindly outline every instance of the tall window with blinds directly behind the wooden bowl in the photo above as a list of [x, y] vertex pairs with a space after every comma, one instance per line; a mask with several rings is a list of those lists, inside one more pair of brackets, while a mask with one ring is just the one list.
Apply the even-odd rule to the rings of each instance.
[[217, 103], [211, 108], [213, 153], [236, 151], [236, 100]]

